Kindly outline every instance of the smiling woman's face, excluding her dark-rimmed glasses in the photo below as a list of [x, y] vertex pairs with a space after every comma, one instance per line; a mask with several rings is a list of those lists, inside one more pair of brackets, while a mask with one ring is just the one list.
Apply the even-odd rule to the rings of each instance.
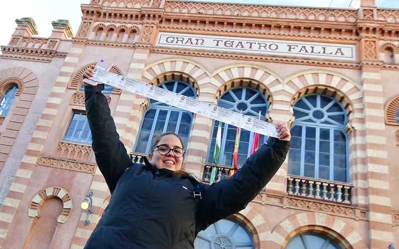
[[[180, 142], [180, 139], [173, 135], [165, 135], [158, 142], [158, 145], [165, 145], [170, 148], [183, 148], [183, 144]], [[183, 156], [176, 157], [175, 154], [170, 150], [166, 155], [161, 155], [156, 148], [152, 153], [148, 155], [151, 164], [157, 166], [157, 168], [167, 168], [173, 171], [182, 169], [183, 164]]]

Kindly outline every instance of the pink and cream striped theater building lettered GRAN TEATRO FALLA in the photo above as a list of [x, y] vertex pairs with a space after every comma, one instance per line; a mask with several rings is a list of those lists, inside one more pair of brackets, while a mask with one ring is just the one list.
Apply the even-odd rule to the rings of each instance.
[[[91, 0], [75, 36], [58, 20], [46, 38], [17, 19], [0, 56], [0, 247], [81, 249], [101, 218], [110, 192], [81, 76], [106, 56], [113, 73], [290, 125], [283, 166], [244, 210], [201, 232], [197, 249], [399, 248], [399, 9], [351, 4]], [[189, 148], [184, 169], [205, 183], [214, 167], [215, 181], [228, 176], [236, 127], [222, 124], [215, 166], [218, 122], [104, 94], [132, 160], [174, 131]], [[241, 130], [238, 166], [253, 137]]]

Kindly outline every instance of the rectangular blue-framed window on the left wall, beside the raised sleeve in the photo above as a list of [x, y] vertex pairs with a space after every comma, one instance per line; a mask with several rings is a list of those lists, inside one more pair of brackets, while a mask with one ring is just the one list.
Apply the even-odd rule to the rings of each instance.
[[74, 112], [72, 114], [63, 139], [91, 144], [91, 131], [85, 113]]

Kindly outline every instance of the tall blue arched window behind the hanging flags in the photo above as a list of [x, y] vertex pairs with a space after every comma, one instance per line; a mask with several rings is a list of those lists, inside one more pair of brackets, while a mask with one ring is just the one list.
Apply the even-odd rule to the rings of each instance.
[[[235, 111], [242, 114], [258, 118], [260, 112], [261, 120], [264, 120], [268, 109], [268, 102], [264, 95], [257, 90], [249, 87], [235, 87], [225, 91], [219, 98], [219, 107]], [[213, 151], [216, 143], [218, 122], [213, 122], [212, 138], [208, 148], [207, 162], [214, 163]], [[237, 136], [237, 127], [229, 124], [222, 125], [221, 147], [219, 164], [232, 165], [235, 138]], [[241, 129], [238, 142], [238, 167], [242, 166], [251, 152], [251, 146], [254, 133], [249, 130]], [[264, 135], [259, 135], [259, 144], [263, 144], [266, 140]]]

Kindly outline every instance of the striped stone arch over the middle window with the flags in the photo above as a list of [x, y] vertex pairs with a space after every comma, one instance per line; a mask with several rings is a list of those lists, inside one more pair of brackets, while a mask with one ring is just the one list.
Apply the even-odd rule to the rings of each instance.
[[282, 79], [275, 72], [257, 65], [235, 64], [222, 67], [211, 75], [211, 82], [217, 87], [215, 99], [226, 90], [246, 86], [258, 90], [273, 106], [272, 89], [281, 86]]

